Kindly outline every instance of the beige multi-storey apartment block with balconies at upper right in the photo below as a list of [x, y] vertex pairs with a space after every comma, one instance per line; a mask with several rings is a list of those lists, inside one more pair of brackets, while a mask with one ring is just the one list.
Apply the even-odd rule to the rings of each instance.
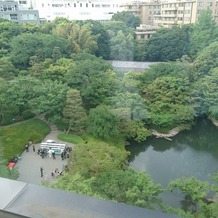
[[125, 11], [138, 15], [142, 24], [150, 26], [171, 27], [195, 23], [205, 9], [210, 9], [215, 21], [218, 21], [217, 0], [133, 1], [122, 7]]

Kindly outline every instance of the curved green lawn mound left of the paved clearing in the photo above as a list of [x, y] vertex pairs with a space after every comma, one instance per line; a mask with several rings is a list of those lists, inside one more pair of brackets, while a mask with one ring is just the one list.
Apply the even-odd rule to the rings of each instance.
[[13, 126], [0, 128], [0, 152], [3, 159], [19, 156], [29, 142], [41, 142], [50, 132], [49, 126], [38, 119], [32, 119]]

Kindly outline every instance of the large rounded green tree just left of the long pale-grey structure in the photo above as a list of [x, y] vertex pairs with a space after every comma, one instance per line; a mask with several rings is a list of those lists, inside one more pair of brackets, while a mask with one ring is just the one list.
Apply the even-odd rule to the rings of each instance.
[[94, 56], [88, 56], [87, 59], [83, 55], [74, 57], [76, 62], [68, 71], [66, 81], [71, 88], [80, 91], [85, 106], [90, 108], [113, 95], [116, 75], [106, 61]]

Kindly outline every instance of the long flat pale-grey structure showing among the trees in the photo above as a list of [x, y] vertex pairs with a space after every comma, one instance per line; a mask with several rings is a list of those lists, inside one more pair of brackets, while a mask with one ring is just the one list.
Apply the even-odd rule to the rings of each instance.
[[141, 72], [145, 69], [150, 68], [152, 64], [157, 64], [158, 62], [139, 62], [139, 61], [109, 61], [114, 70], [119, 71], [134, 71]]

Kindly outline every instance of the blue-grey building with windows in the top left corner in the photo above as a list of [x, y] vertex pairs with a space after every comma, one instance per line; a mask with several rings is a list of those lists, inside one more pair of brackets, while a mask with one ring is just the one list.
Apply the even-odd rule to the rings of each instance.
[[37, 10], [20, 8], [17, 1], [0, 0], [0, 18], [16, 23], [39, 23]]

